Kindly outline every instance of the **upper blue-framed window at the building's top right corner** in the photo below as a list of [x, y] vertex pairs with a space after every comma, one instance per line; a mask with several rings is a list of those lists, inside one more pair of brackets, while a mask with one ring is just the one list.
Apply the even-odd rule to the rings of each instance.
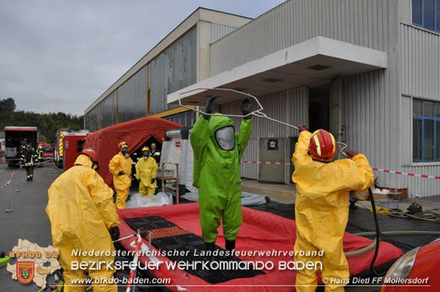
[[412, 23], [440, 32], [440, 0], [412, 0]]

